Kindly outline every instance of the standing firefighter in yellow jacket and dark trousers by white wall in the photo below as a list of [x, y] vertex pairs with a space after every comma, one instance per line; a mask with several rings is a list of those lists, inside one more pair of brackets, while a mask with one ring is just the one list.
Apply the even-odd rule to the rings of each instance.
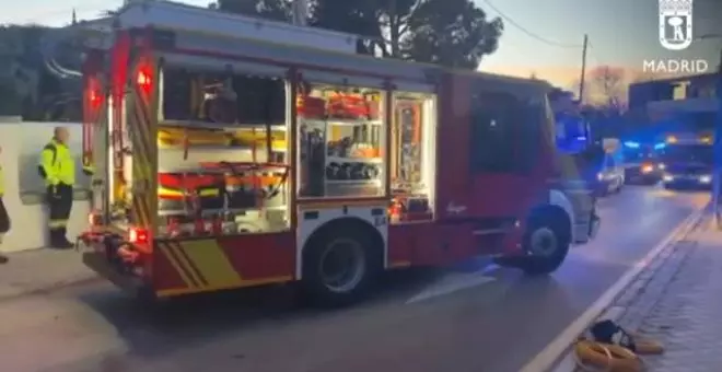
[[[67, 128], [55, 128], [53, 140], [40, 153], [38, 171], [47, 187], [47, 202], [50, 209], [48, 228], [50, 246], [54, 248], [70, 248], [67, 225], [72, 209], [73, 185], [75, 184], [75, 160], [68, 148], [70, 133]], [[83, 172], [92, 175], [90, 164], [83, 164]]]

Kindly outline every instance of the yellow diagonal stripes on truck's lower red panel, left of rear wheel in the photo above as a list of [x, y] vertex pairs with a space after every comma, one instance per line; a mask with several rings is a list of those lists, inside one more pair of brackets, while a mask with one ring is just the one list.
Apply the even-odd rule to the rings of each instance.
[[159, 297], [211, 292], [292, 279], [291, 276], [280, 276], [244, 280], [214, 239], [159, 242], [156, 249], [171, 263], [185, 283], [184, 288], [158, 290]]

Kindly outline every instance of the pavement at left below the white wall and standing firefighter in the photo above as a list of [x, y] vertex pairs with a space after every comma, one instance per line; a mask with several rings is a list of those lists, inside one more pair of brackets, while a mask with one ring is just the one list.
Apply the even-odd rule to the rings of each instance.
[[9, 253], [8, 257], [10, 261], [0, 266], [0, 301], [96, 278], [74, 249], [32, 249]]

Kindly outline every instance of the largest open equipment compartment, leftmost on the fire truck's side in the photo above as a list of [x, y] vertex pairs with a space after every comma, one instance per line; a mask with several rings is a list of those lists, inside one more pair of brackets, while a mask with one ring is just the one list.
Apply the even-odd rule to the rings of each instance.
[[[176, 58], [161, 68], [159, 236], [290, 229], [282, 73]], [[279, 71], [280, 72], [280, 71]]]

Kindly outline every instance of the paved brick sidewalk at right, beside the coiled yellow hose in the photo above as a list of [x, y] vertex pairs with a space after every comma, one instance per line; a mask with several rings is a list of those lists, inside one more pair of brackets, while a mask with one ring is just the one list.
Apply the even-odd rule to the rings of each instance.
[[722, 370], [722, 231], [707, 218], [666, 259], [642, 272], [613, 306], [618, 323], [661, 341], [643, 357], [652, 372]]

